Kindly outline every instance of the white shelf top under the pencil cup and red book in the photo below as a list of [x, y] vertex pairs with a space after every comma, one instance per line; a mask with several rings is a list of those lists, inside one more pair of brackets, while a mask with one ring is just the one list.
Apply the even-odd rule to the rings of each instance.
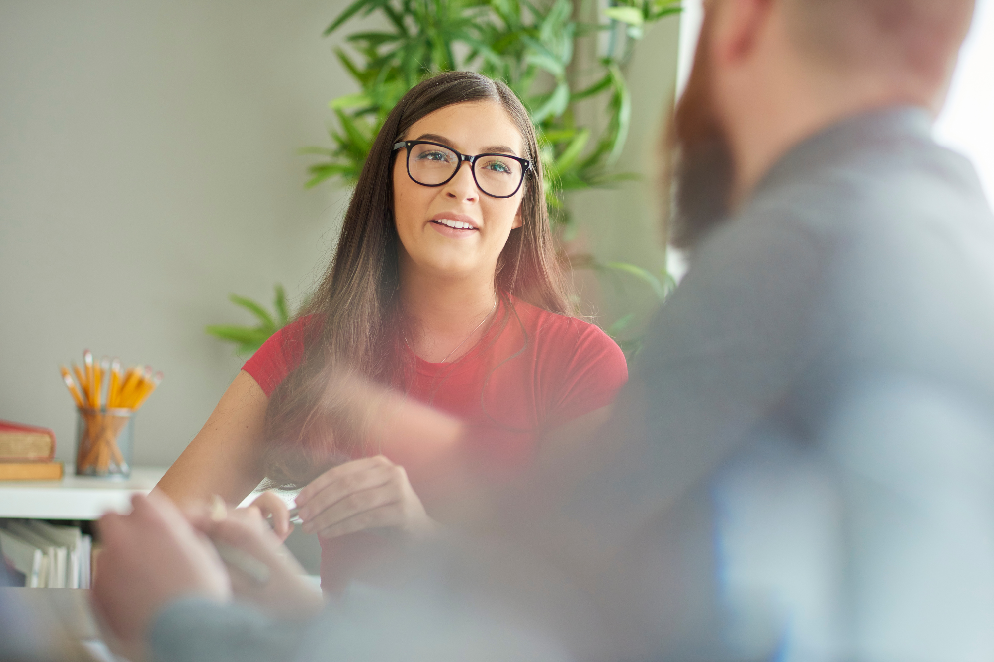
[[74, 475], [66, 465], [62, 480], [0, 482], [0, 517], [45, 520], [96, 520], [108, 510], [127, 512], [131, 495], [147, 494], [166, 467], [134, 467], [127, 480]]

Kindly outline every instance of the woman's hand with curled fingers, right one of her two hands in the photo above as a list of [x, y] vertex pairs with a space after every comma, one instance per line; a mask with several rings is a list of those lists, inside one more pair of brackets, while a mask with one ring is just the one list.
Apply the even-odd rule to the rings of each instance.
[[437, 526], [424, 512], [404, 467], [383, 455], [325, 471], [300, 490], [297, 507], [303, 530], [321, 538], [381, 528], [418, 538]]

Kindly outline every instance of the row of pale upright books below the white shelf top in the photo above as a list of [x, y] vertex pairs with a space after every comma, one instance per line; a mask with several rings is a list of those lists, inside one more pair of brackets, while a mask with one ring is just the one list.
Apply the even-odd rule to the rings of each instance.
[[32, 588], [89, 588], [93, 541], [79, 527], [0, 520], [0, 559]]

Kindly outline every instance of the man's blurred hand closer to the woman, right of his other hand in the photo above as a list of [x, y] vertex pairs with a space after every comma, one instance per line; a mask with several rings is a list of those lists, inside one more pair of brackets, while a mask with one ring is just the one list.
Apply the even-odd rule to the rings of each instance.
[[233, 569], [232, 586], [240, 598], [281, 619], [313, 616], [324, 606], [320, 591], [303, 579], [304, 570], [269, 529], [254, 504], [228, 511], [223, 518], [205, 514], [193, 515], [191, 520], [219, 545], [239, 549], [269, 569], [269, 578], [262, 582]]

